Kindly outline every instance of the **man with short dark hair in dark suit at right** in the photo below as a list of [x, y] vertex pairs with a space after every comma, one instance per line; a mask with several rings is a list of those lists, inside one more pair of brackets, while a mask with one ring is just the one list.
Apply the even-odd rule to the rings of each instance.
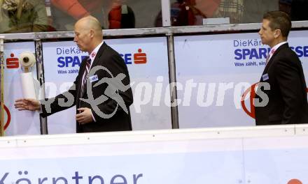
[[272, 11], [263, 16], [259, 34], [271, 50], [255, 98], [256, 125], [308, 123], [307, 86], [300, 59], [287, 43], [290, 29], [286, 13]]

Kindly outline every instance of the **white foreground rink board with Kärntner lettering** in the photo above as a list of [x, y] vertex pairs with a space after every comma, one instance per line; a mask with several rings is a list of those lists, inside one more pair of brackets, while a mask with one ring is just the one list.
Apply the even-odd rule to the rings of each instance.
[[[258, 135], [258, 131], [252, 132]], [[262, 135], [262, 131], [259, 133]], [[0, 181], [16, 184], [308, 183], [307, 135], [239, 137], [234, 131], [232, 138], [214, 138], [211, 134], [207, 130], [151, 131], [136, 135], [118, 132], [78, 137], [20, 137], [17, 142], [0, 140], [3, 166]]]

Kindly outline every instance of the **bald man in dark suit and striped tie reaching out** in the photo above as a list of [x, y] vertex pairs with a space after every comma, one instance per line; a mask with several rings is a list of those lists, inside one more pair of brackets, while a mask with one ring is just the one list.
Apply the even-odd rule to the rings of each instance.
[[106, 45], [99, 21], [83, 17], [75, 24], [74, 42], [89, 57], [81, 63], [74, 85], [55, 98], [19, 99], [20, 110], [41, 110], [43, 117], [76, 105], [77, 132], [132, 130], [132, 89], [127, 66], [118, 52]]

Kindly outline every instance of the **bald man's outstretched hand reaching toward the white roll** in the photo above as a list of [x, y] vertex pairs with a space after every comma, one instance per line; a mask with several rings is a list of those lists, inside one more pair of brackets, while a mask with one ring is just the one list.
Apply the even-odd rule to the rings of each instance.
[[24, 111], [24, 110], [28, 110], [28, 111], [39, 111], [41, 109], [41, 105], [40, 102], [38, 100], [35, 99], [31, 99], [31, 98], [22, 98], [22, 99], [18, 99], [15, 100], [15, 109], [18, 109], [19, 111]]

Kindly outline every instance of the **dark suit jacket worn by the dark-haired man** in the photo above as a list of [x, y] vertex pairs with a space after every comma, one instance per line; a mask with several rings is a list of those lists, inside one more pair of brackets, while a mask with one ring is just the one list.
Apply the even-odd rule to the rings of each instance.
[[304, 72], [300, 59], [288, 47], [288, 43], [276, 49], [262, 76], [260, 82], [268, 82], [270, 90], [258, 88], [259, 95], [256, 95], [255, 100], [265, 100], [260, 95], [263, 92], [269, 101], [265, 107], [255, 107], [255, 124], [308, 123]]

